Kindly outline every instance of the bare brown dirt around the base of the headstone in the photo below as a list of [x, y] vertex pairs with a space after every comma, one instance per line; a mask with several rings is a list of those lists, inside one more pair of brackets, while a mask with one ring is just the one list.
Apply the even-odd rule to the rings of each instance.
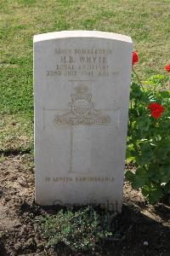
[[[51, 209], [34, 204], [34, 176], [32, 166], [27, 165], [29, 160], [29, 154], [9, 155], [0, 162], [0, 256], [92, 255], [72, 253], [61, 245], [55, 251], [44, 246], [35, 229], [35, 218]], [[94, 255], [170, 255], [169, 205], [148, 205], [127, 183], [116, 230], [119, 236], [99, 244]]]

